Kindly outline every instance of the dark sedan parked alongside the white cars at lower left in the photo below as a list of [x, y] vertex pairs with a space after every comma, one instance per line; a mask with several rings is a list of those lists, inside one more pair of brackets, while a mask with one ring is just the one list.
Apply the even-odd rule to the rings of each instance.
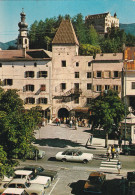
[[51, 180], [54, 180], [57, 177], [57, 171], [44, 169], [42, 166], [38, 165], [29, 165], [24, 167], [23, 169], [33, 171], [34, 175], [51, 177]]

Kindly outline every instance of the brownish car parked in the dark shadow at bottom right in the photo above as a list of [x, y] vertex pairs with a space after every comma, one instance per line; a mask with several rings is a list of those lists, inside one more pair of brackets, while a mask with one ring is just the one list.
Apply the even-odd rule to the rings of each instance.
[[92, 172], [84, 185], [84, 192], [102, 194], [106, 175], [101, 172]]

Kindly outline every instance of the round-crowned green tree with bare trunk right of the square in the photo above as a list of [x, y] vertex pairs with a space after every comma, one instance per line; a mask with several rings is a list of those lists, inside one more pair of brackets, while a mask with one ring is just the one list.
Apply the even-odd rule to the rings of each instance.
[[113, 90], [101, 93], [91, 104], [92, 130], [103, 128], [106, 134], [105, 147], [108, 145], [108, 134], [119, 128], [119, 123], [125, 116], [125, 105]]

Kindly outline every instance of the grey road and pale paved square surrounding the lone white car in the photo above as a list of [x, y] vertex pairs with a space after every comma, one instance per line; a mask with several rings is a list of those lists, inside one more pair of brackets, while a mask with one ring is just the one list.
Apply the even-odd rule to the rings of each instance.
[[[122, 191], [123, 187], [121, 187], [121, 178], [126, 178], [127, 171], [135, 170], [135, 157], [120, 155], [119, 159], [122, 162], [120, 175], [117, 174], [117, 169], [100, 169], [101, 162], [106, 161], [106, 149], [103, 147], [104, 140], [99, 139], [98, 142], [98, 139], [95, 138], [93, 145], [89, 148], [85, 148], [85, 141], [87, 141], [88, 137], [86, 133], [87, 128], [80, 128], [79, 131], [75, 131], [74, 129], [70, 130], [68, 127], [63, 128], [63, 126], [58, 128], [54, 125], [42, 127], [40, 129], [40, 139], [38, 139], [39, 132], [35, 135], [37, 136], [35, 145], [46, 152], [45, 158], [38, 161], [26, 160], [25, 162], [21, 162], [20, 165], [38, 164], [46, 169], [58, 171], [58, 177], [52, 182], [52, 185], [46, 189], [47, 195], [84, 194], [84, 183], [92, 171], [105, 172], [107, 181], [104, 195], [113, 195], [114, 186], [116, 190], [115, 194], [124, 195], [125, 192]], [[68, 138], [70, 137], [70, 139], [66, 139], [67, 136]], [[111, 140], [110, 142], [113, 143], [114, 141]], [[87, 164], [56, 161], [56, 153], [67, 148], [80, 148], [81, 151], [94, 154], [94, 159]]]

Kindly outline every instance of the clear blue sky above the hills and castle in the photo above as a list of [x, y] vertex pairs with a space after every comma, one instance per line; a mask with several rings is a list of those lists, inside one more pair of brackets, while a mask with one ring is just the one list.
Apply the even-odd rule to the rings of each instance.
[[87, 15], [116, 12], [119, 22], [135, 23], [135, 0], [0, 0], [0, 42], [18, 37], [18, 22], [24, 8], [30, 28], [35, 20], [81, 13]]

